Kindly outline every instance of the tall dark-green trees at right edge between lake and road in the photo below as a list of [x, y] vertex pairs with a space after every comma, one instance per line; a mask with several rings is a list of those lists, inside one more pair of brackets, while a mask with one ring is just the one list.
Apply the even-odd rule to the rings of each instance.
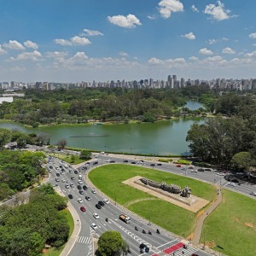
[[[202, 160], [249, 170], [256, 156], [256, 102], [253, 96], [225, 94], [215, 102], [224, 117], [194, 124], [187, 141], [191, 152]], [[247, 164], [246, 164], [247, 162]]]

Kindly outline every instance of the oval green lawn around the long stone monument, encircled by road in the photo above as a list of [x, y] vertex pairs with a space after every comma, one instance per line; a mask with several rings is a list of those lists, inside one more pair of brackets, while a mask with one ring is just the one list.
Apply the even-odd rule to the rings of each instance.
[[148, 220], [150, 218], [151, 222], [159, 224], [179, 236], [189, 236], [195, 227], [195, 214], [160, 199], [150, 201], [150, 198], [155, 199], [153, 195], [148, 195], [141, 190], [121, 183], [125, 179], [137, 175], [159, 182], [164, 181], [168, 184], [175, 183], [182, 188], [188, 185], [192, 189], [193, 195], [200, 196], [208, 201], [212, 201], [215, 196], [215, 189], [207, 183], [139, 166], [117, 164], [101, 166], [91, 171], [89, 178], [98, 189], [101, 189], [102, 192], [116, 200], [120, 205], [148, 198], [148, 201], [133, 203], [128, 208], [143, 218]]

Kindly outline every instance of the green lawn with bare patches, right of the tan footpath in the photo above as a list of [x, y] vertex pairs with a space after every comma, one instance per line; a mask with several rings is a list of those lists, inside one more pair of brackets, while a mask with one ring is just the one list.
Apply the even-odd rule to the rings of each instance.
[[[226, 255], [254, 256], [256, 249], [256, 201], [223, 189], [223, 202], [206, 219], [201, 242]], [[222, 247], [222, 248], [220, 248]]]

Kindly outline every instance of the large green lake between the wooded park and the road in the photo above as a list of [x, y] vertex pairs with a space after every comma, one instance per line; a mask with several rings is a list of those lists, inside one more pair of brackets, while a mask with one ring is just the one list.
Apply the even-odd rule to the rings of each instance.
[[54, 144], [61, 138], [67, 146], [129, 154], [189, 154], [187, 132], [195, 122], [204, 119], [186, 118], [154, 124], [55, 125], [27, 128], [14, 122], [0, 122], [0, 127], [26, 133], [45, 133]]

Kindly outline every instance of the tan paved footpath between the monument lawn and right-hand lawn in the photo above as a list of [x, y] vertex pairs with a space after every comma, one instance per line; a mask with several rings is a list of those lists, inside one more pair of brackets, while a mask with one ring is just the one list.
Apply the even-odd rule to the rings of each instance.
[[220, 187], [216, 186], [216, 200], [208, 207], [198, 218], [195, 225], [195, 232], [192, 239], [192, 244], [194, 246], [199, 245], [201, 230], [204, 224], [205, 219], [218, 207], [218, 205], [222, 202], [222, 193]]

